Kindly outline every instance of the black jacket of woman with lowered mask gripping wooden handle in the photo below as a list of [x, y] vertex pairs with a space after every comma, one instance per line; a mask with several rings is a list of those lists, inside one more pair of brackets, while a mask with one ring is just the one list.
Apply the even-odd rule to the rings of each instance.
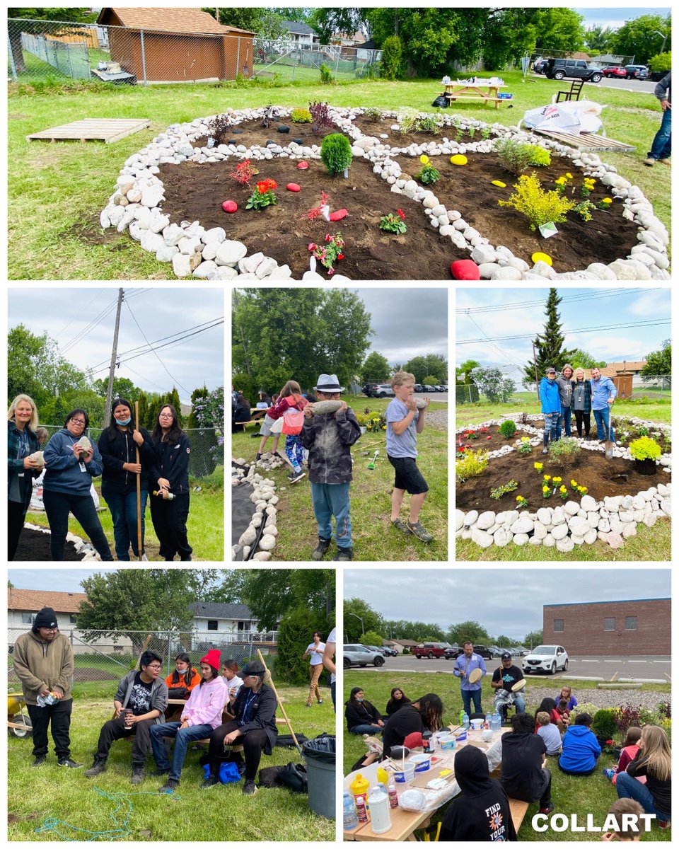
[[[139, 463], [142, 474], [139, 475], [142, 489], [149, 489], [149, 481], [157, 477], [155, 465], [157, 456], [154, 442], [148, 430], [139, 428], [143, 436], [139, 448]], [[124, 463], [137, 462], [137, 443], [132, 439], [131, 430], [111, 430], [106, 428], [99, 436], [98, 449], [104, 463], [101, 475], [101, 494], [106, 498], [110, 495], [126, 495], [137, 489], [137, 475], [123, 469]]]

